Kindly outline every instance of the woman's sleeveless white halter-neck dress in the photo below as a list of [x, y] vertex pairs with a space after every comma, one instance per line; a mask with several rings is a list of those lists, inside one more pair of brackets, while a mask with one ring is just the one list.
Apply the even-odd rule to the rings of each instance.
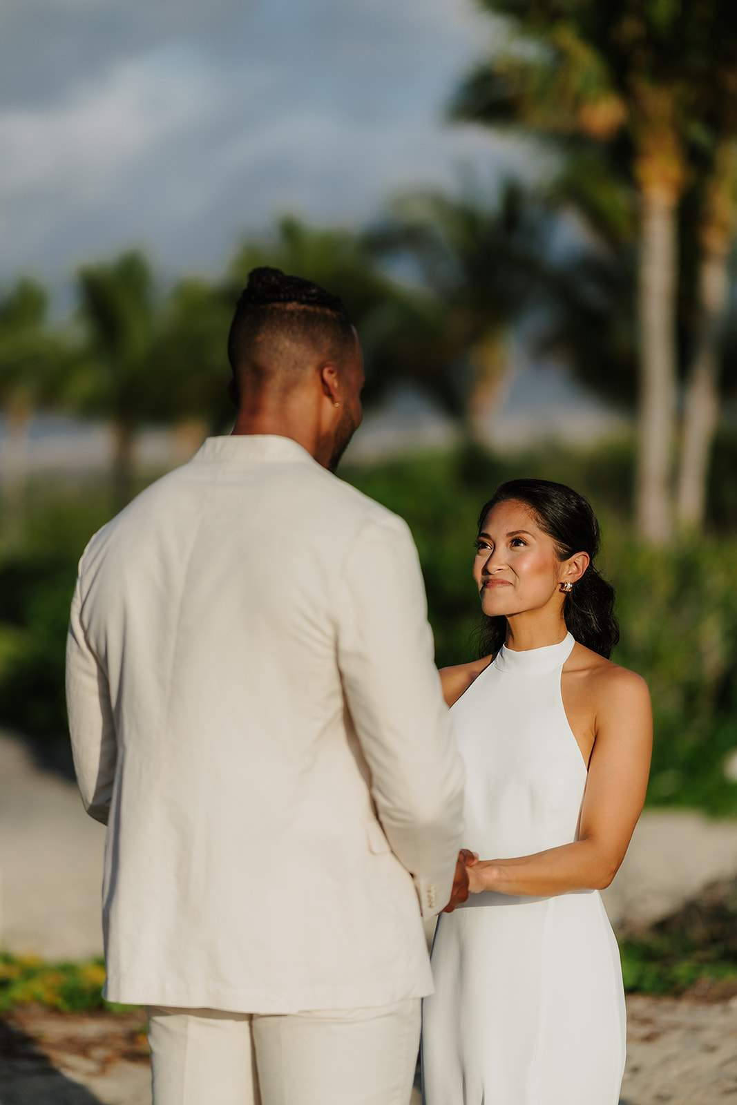
[[[560, 694], [573, 648], [503, 648], [452, 708], [465, 846], [512, 859], [575, 841], [587, 769]], [[597, 891], [473, 894], [441, 914], [423, 1002], [425, 1105], [617, 1105], [625, 1010]]]

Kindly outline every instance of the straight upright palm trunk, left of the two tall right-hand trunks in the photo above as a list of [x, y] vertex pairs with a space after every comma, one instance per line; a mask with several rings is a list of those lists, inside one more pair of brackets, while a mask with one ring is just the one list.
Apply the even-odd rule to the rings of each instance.
[[672, 448], [675, 432], [676, 197], [642, 190], [640, 254], [640, 427], [635, 517], [639, 536], [664, 545], [673, 533]]

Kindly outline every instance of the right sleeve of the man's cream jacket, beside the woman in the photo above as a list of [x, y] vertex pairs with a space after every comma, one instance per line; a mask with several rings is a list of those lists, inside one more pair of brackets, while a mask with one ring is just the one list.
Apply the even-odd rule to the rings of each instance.
[[407, 525], [371, 518], [344, 565], [338, 664], [383, 831], [423, 917], [451, 895], [464, 771], [434, 666], [424, 586]]

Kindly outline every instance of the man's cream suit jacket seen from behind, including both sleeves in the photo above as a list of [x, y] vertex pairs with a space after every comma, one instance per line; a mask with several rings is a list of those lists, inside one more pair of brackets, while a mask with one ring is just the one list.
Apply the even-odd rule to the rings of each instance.
[[85, 549], [67, 705], [109, 1000], [432, 991], [463, 769], [402, 520], [287, 438], [208, 439]]

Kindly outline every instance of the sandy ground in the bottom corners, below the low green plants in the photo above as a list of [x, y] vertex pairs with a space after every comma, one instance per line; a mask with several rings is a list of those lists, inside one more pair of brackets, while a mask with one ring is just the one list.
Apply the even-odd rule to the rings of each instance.
[[[628, 998], [621, 1105], [737, 1101], [737, 1001]], [[19, 1010], [0, 1020], [0, 1105], [150, 1105], [145, 1025]], [[420, 1105], [417, 1090], [410, 1105]]]

